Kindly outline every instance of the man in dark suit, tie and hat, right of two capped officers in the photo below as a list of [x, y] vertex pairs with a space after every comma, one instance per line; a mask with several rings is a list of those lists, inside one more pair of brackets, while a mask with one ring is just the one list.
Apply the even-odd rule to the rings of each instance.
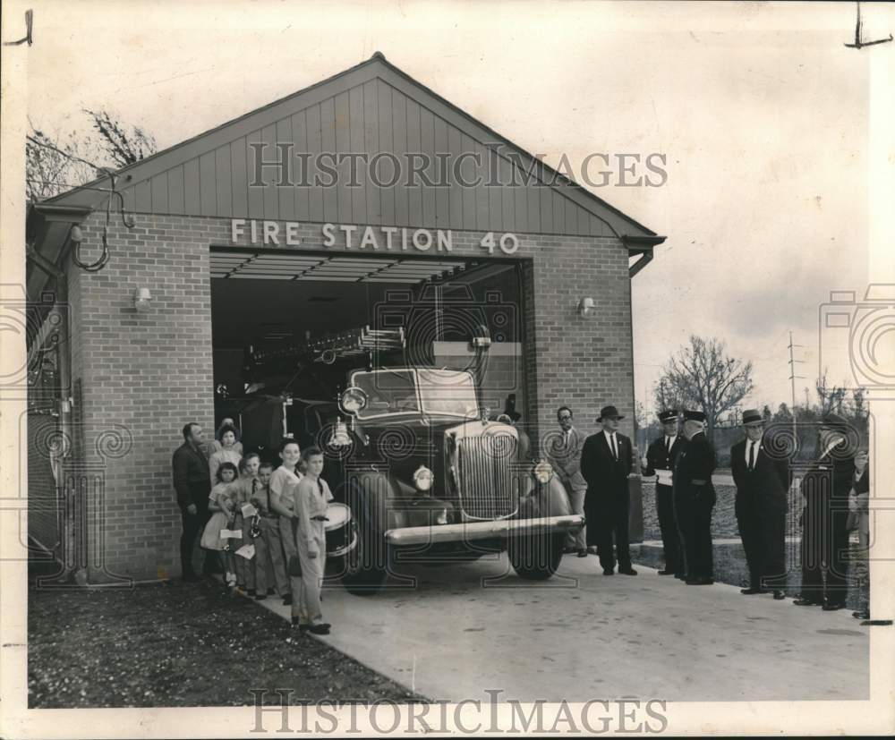
[[730, 468], [737, 485], [735, 510], [746, 550], [749, 587], [741, 593], [767, 593], [783, 599], [786, 585], [786, 512], [789, 463], [763, 444], [764, 419], [755, 409], [743, 412], [746, 439], [730, 448]]

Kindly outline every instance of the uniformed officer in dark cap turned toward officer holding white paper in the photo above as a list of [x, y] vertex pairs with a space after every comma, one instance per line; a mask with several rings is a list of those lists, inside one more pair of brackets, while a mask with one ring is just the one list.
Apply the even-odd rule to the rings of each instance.
[[678, 453], [674, 469], [674, 502], [678, 528], [686, 554], [686, 584], [714, 583], [712, 566], [712, 508], [715, 489], [715, 449], [705, 438], [705, 414], [684, 412], [686, 444]]

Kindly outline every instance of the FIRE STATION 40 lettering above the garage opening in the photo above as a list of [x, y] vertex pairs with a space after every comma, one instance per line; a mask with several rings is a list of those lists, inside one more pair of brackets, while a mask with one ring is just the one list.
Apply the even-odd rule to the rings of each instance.
[[[241, 243], [248, 237], [251, 244], [284, 244], [296, 247], [302, 243], [301, 225], [296, 221], [256, 221], [233, 218], [230, 222], [230, 239]], [[407, 229], [398, 226], [359, 226], [353, 224], [324, 224], [321, 228], [324, 247], [338, 246], [342, 241], [346, 250], [384, 251], [453, 251], [454, 235], [450, 229]], [[488, 232], [479, 242], [482, 249], [494, 253], [499, 248], [504, 254], [515, 254], [519, 249], [516, 234]]]

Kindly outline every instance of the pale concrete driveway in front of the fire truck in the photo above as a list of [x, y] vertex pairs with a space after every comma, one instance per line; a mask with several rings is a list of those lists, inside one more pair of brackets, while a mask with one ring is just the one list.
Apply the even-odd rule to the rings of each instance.
[[[324, 591], [319, 639], [433, 700], [584, 702], [865, 699], [868, 627], [850, 612], [798, 608], [716, 583], [686, 586], [636, 566], [604, 576], [565, 557], [549, 582], [505, 555], [408, 566], [413, 588]], [[288, 618], [288, 607], [268, 599]]]

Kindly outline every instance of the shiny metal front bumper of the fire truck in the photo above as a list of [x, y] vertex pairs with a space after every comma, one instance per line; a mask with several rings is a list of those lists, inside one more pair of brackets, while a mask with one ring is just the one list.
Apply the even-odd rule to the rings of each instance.
[[402, 527], [388, 530], [389, 545], [429, 545], [434, 542], [469, 542], [514, 537], [523, 534], [565, 534], [584, 526], [584, 516], [568, 514], [545, 516], [542, 519], [499, 519], [496, 522], [432, 524], [425, 527]]

